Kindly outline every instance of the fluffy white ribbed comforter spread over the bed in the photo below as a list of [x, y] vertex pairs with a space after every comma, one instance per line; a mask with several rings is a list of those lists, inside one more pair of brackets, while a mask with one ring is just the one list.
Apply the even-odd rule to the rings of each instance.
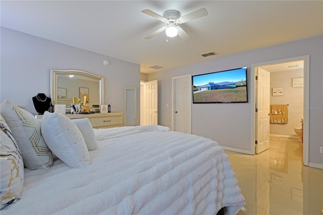
[[1, 214], [236, 214], [245, 204], [218, 143], [162, 126], [95, 130], [91, 165], [26, 170]]

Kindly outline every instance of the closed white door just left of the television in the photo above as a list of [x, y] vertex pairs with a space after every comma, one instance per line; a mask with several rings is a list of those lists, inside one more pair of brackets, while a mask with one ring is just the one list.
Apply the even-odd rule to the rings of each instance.
[[191, 133], [191, 76], [173, 78], [173, 131]]

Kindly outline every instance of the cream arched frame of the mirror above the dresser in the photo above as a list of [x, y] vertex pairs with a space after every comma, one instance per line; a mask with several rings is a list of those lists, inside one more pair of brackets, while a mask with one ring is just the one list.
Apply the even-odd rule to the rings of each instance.
[[91, 78], [94, 81], [99, 82], [99, 104], [104, 104], [104, 77], [94, 75], [89, 72], [81, 70], [50, 70], [50, 98], [53, 105], [56, 103], [57, 99], [57, 76], [59, 75], [81, 75], [87, 78]]

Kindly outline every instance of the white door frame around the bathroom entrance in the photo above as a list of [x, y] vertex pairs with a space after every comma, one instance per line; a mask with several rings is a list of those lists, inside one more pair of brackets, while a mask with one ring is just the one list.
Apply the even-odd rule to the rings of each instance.
[[280, 64], [280, 63], [290, 62], [290, 61], [301, 61], [301, 60], [304, 61], [303, 164], [305, 166], [308, 166], [309, 110], [306, 107], [309, 106], [309, 55], [251, 64], [250, 103], [253, 105], [253, 108], [251, 109], [251, 143], [250, 143], [251, 154], [255, 154], [255, 126], [256, 126], [255, 125], [255, 111], [256, 111], [255, 67], [261, 67], [261, 66], [271, 65], [271, 64]]

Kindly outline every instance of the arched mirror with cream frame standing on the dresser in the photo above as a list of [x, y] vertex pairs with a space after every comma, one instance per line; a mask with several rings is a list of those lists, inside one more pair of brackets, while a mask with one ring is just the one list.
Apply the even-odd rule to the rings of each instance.
[[89, 97], [89, 106], [103, 104], [104, 78], [80, 70], [50, 70], [50, 97], [53, 104], [70, 107], [72, 98]]

